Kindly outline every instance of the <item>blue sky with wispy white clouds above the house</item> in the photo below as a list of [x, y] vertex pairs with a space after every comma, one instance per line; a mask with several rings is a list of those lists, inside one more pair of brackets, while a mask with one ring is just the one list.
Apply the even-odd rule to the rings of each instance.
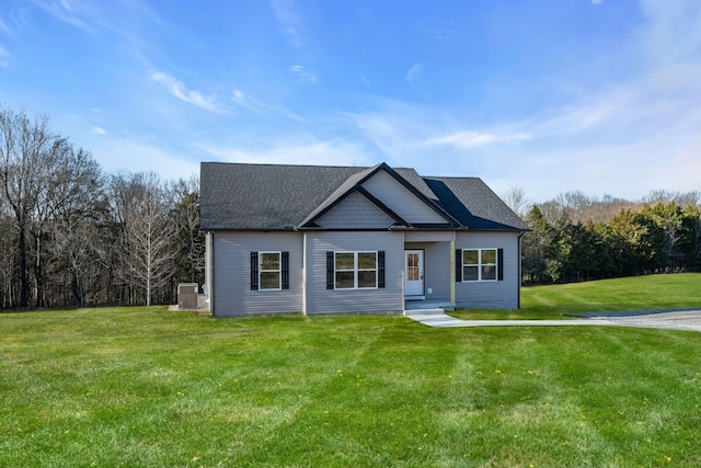
[[413, 167], [701, 190], [698, 0], [3, 0], [0, 102], [110, 172]]

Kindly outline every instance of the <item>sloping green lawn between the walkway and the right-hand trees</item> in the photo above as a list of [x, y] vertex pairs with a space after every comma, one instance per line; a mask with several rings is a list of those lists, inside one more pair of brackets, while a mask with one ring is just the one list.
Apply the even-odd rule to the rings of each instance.
[[701, 274], [651, 275], [521, 288], [521, 308], [458, 310], [466, 320], [571, 319], [576, 313], [701, 309]]

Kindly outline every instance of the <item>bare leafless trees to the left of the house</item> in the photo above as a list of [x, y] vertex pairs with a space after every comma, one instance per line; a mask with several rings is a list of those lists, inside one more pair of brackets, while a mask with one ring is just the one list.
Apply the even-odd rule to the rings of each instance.
[[48, 124], [0, 105], [0, 308], [174, 304], [202, 283], [198, 180], [105, 173]]

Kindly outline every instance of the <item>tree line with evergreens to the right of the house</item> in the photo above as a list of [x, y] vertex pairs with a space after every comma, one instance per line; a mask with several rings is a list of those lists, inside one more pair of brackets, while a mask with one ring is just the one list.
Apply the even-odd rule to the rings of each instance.
[[654, 191], [637, 202], [568, 192], [529, 204], [512, 189], [504, 199], [531, 229], [522, 238], [525, 283], [701, 271], [700, 192]]

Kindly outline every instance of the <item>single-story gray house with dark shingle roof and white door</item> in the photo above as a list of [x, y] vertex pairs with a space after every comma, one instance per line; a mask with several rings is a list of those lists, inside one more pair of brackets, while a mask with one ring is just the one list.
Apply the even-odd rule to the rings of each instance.
[[204, 162], [200, 176], [217, 317], [519, 306], [528, 227], [480, 179], [386, 163]]

